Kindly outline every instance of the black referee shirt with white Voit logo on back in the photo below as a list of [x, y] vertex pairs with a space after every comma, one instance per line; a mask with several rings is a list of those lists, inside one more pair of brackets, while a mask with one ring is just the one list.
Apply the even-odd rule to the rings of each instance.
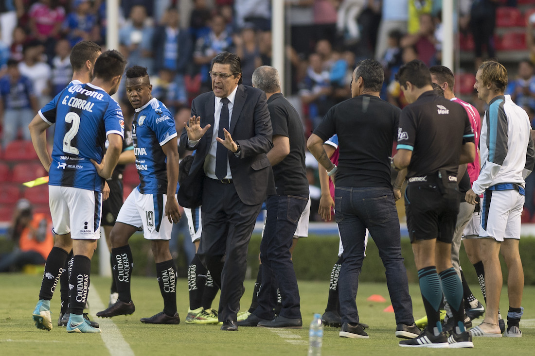
[[461, 105], [426, 91], [403, 108], [398, 149], [412, 151], [407, 178], [432, 175], [439, 169], [456, 175], [465, 142], [474, 142], [474, 136]]

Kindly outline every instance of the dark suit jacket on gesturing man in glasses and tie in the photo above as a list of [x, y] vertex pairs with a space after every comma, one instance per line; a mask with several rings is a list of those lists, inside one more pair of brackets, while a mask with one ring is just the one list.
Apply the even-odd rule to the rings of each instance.
[[[215, 95], [212, 91], [196, 97], [192, 103], [192, 116], [201, 117], [201, 127], [208, 124], [211, 127], [193, 147], [187, 145], [186, 129], [180, 136], [182, 148], [197, 150], [189, 175], [178, 191], [178, 202], [184, 207], [194, 208], [202, 203], [203, 166], [212, 140], [214, 112]], [[232, 139], [240, 144], [241, 150], [239, 157], [228, 151], [236, 192], [244, 204], [262, 204], [266, 195], [275, 194], [273, 171], [266, 156], [273, 147], [271, 119], [266, 95], [262, 90], [239, 84], [228, 131]]]

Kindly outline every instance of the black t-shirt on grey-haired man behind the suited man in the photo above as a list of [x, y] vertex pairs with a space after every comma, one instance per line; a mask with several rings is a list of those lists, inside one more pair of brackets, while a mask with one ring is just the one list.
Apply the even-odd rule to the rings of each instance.
[[280, 93], [268, 99], [273, 136], [288, 137], [290, 153], [273, 166], [278, 195], [308, 194], [307, 172], [304, 163], [304, 130], [299, 114]]

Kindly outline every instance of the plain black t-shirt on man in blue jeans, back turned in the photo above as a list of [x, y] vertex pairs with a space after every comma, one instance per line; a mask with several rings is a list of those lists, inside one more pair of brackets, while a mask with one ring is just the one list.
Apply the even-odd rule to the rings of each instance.
[[400, 113], [399, 107], [372, 95], [345, 100], [327, 112], [314, 134], [324, 141], [338, 135], [337, 185], [392, 187], [388, 157]]

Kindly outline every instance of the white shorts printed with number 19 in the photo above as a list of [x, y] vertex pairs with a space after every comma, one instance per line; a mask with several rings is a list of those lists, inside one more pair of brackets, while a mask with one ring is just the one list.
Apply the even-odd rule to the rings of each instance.
[[148, 240], [170, 240], [173, 223], [165, 216], [166, 194], [141, 194], [137, 188], [126, 198], [116, 222], [143, 227]]

